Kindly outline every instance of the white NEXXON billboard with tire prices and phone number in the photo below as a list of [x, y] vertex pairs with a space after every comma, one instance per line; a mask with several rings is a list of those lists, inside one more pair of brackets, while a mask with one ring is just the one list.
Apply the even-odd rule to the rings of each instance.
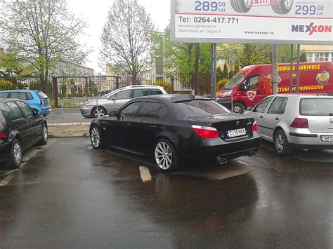
[[171, 0], [171, 41], [333, 45], [332, 0]]

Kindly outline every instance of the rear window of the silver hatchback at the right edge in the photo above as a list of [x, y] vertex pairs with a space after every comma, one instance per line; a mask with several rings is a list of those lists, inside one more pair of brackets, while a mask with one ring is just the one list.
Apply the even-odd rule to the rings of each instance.
[[301, 99], [299, 114], [303, 116], [333, 116], [333, 98]]

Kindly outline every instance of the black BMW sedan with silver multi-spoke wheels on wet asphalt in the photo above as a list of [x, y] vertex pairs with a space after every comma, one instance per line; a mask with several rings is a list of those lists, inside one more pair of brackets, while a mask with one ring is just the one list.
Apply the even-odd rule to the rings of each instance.
[[228, 159], [254, 156], [260, 137], [252, 117], [232, 114], [211, 99], [155, 95], [131, 100], [117, 112], [91, 122], [93, 148], [106, 145], [153, 156], [164, 171], [187, 157]]

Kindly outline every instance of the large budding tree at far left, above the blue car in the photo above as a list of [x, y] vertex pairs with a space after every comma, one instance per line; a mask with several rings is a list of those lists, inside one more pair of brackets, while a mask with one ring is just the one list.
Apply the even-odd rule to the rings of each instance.
[[8, 1], [0, 27], [6, 48], [20, 58], [20, 65], [34, 70], [42, 90], [58, 62], [80, 64], [86, 59], [78, 38], [86, 22], [68, 11], [65, 0]]

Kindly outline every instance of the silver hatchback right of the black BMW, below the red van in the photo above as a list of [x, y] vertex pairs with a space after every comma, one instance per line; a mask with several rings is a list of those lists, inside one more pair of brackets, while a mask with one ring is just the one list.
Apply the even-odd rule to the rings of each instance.
[[254, 116], [258, 133], [278, 154], [333, 149], [333, 96], [270, 95], [245, 114]]

